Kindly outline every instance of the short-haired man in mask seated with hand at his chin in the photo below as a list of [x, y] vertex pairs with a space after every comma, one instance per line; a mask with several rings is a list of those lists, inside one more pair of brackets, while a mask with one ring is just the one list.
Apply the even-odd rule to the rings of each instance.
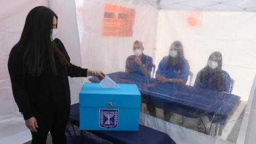
[[136, 73], [150, 77], [153, 67], [153, 59], [146, 54], [143, 54], [144, 47], [142, 42], [135, 41], [133, 43], [134, 55], [130, 55], [126, 59], [125, 72]]

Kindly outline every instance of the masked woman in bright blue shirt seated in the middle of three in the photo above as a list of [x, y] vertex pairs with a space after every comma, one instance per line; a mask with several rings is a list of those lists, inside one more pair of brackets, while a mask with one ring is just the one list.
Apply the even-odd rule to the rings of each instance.
[[[156, 71], [156, 78], [161, 83], [186, 84], [189, 75], [189, 64], [184, 57], [183, 45], [180, 41], [171, 44], [169, 56], [164, 57]], [[147, 105], [150, 115], [156, 116], [156, 109]], [[164, 110], [165, 121], [170, 121], [170, 111]]]

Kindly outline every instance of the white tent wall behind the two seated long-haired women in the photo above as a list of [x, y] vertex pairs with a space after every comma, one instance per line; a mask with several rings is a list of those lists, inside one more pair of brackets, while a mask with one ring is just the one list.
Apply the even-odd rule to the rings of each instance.
[[[188, 18], [198, 21], [190, 26]], [[256, 23], [255, 13], [170, 11], [158, 12], [155, 63], [168, 54], [173, 41], [184, 47], [194, 81], [199, 70], [206, 66], [210, 54], [220, 51], [222, 69], [235, 80], [233, 94], [248, 100], [256, 71]]]

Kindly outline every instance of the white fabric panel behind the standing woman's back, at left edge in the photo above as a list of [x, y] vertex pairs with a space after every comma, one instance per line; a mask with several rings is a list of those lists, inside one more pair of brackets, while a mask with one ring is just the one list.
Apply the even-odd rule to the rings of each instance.
[[39, 5], [47, 6], [47, 1], [0, 1], [0, 143], [31, 139], [12, 95], [7, 61], [10, 50], [19, 41], [28, 12]]

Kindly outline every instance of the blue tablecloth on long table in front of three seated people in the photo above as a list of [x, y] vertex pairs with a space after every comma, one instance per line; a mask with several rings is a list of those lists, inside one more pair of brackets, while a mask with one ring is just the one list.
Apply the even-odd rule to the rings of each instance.
[[[190, 118], [208, 116], [212, 123], [224, 124], [228, 114], [240, 100], [234, 94], [174, 83], [161, 84], [154, 78], [139, 74], [117, 72], [108, 76], [117, 83], [137, 84], [142, 94], [142, 102]], [[98, 78], [89, 80], [100, 82]]]

